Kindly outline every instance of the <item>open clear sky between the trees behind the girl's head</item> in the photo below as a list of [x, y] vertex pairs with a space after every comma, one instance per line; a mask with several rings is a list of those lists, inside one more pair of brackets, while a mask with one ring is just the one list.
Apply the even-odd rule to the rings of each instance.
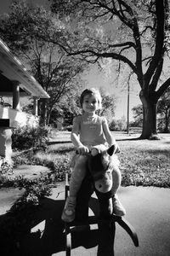
[[[9, 4], [11, 0], [0, 0], [0, 14], [8, 13]], [[36, 5], [46, 5], [48, 0], [27, 0], [28, 3]], [[116, 114], [115, 119], [121, 119], [124, 116], [127, 119], [127, 88], [116, 87], [114, 81], [114, 73], [105, 75], [104, 72], [99, 71], [95, 66], [90, 67], [89, 71], [83, 73], [82, 79], [86, 81], [87, 87], [104, 88], [106, 94], [115, 95], [116, 102]], [[129, 119], [133, 120], [132, 108], [141, 104], [139, 100], [139, 87], [131, 89], [129, 94]]]

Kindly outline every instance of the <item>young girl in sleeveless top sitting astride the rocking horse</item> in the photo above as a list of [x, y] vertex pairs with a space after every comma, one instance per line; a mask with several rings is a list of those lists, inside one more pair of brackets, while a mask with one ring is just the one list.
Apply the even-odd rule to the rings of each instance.
[[[86, 175], [87, 154], [99, 154], [100, 151], [106, 150], [111, 145], [115, 145], [115, 153], [118, 146], [116, 140], [111, 135], [107, 121], [104, 117], [96, 114], [101, 108], [101, 96], [99, 90], [86, 89], [80, 97], [82, 115], [73, 119], [73, 128], [71, 131], [71, 141], [77, 148], [78, 154], [74, 156], [74, 167], [71, 173], [70, 195], [65, 201], [65, 207], [61, 218], [65, 222], [71, 222], [75, 218], [75, 208], [77, 201], [77, 192], [81, 187], [82, 180]], [[125, 209], [116, 196], [116, 191], [121, 184], [121, 172], [118, 168], [119, 160], [116, 159], [116, 168], [113, 171], [114, 176], [114, 198], [113, 213], [117, 216], [125, 215]]]

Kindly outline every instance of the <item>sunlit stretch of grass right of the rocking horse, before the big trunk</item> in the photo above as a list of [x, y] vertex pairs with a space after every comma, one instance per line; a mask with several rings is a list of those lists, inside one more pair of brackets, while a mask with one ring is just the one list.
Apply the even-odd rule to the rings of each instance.
[[170, 145], [160, 141], [123, 141], [119, 154], [122, 185], [170, 187]]

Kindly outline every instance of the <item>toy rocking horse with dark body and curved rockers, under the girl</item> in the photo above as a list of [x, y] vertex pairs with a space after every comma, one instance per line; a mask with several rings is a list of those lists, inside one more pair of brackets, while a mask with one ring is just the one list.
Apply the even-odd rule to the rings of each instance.
[[[111, 146], [111, 148], [101, 151], [95, 156], [88, 154], [87, 176], [84, 178], [77, 196], [76, 218], [71, 223], [65, 222], [66, 256], [71, 255], [71, 228], [74, 227], [74, 230], [78, 230], [80, 227], [89, 227], [91, 224], [110, 226], [114, 229], [113, 234], [115, 234], [115, 223], [117, 223], [122, 226], [122, 229], [127, 231], [127, 234], [133, 240], [134, 246], [139, 246], [138, 236], [133, 226], [124, 218], [116, 216], [113, 213], [112, 200], [114, 191], [111, 189], [114, 183], [111, 173], [111, 156], [113, 153], [114, 146]], [[91, 195], [94, 191], [98, 197], [98, 201], [95, 201], [97, 204], [93, 202], [90, 205], [90, 201], [92, 201]], [[68, 174], [66, 174], [65, 199], [68, 194], [69, 183]], [[94, 212], [94, 216], [88, 216], [89, 207]], [[114, 255], [114, 252], [110, 254]]]

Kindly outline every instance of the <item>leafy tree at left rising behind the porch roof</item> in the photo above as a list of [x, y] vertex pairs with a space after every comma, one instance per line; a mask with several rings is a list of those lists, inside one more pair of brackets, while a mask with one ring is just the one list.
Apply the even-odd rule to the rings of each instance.
[[82, 61], [66, 56], [59, 45], [37, 37], [37, 31], [48, 30], [51, 35], [56, 32], [55, 24], [59, 20], [50, 11], [34, 8], [26, 1], [13, 1], [9, 14], [2, 15], [0, 20], [1, 38], [50, 96], [38, 101], [42, 124], [48, 125], [51, 113], [55, 109], [59, 112], [65, 96], [71, 96], [71, 90], [78, 90], [79, 74], [85, 65], [82, 67]]

